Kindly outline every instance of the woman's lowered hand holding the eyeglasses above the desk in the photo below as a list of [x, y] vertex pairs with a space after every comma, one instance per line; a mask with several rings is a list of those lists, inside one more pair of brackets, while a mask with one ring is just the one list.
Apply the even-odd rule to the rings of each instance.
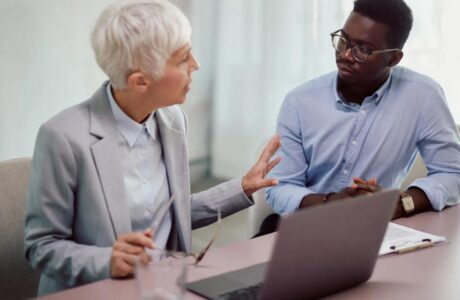
[[153, 249], [153, 232], [147, 229], [144, 232], [132, 232], [118, 237], [112, 247], [110, 258], [110, 274], [112, 277], [126, 277], [134, 272], [136, 261], [148, 263], [150, 257], [144, 248]]

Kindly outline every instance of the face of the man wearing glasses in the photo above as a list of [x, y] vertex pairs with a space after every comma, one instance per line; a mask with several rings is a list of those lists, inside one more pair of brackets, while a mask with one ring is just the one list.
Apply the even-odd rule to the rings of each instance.
[[[352, 12], [342, 28], [342, 36], [352, 45], [362, 45], [368, 50], [387, 49], [388, 26]], [[339, 78], [343, 83], [354, 85], [373, 84], [386, 78], [392, 53], [370, 55], [365, 62], [359, 63], [353, 57], [351, 49], [336, 52]]]

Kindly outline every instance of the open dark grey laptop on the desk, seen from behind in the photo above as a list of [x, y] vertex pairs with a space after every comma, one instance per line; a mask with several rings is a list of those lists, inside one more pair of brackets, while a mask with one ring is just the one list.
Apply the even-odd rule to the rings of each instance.
[[[372, 275], [399, 191], [329, 203], [281, 219], [270, 261], [189, 282], [208, 299], [316, 299]], [[244, 255], [242, 253], [241, 255]]]

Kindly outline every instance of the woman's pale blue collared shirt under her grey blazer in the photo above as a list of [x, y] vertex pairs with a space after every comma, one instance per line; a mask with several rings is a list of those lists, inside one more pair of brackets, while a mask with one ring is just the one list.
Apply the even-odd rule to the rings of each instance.
[[[120, 132], [120, 162], [128, 196], [132, 231], [150, 228], [158, 208], [170, 197], [161, 137], [155, 113], [139, 124], [126, 115], [113, 98], [107, 85], [110, 107]], [[164, 249], [171, 231], [171, 211], [168, 210], [159, 228], [154, 229], [155, 245]]]

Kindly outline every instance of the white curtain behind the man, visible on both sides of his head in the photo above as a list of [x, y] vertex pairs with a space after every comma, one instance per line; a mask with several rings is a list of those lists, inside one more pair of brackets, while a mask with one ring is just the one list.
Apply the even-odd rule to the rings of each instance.
[[[401, 65], [443, 86], [460, 122], [455, 0], [408, 0], [414, 27]], [[275, 133], [279, 107], [298, 84], [335, 70], [329, 33], [342, 27], [351, 0], [218, 1], [212, 173], [242, 175]], [[457, 88], [456, 88], [457, 87]]]

